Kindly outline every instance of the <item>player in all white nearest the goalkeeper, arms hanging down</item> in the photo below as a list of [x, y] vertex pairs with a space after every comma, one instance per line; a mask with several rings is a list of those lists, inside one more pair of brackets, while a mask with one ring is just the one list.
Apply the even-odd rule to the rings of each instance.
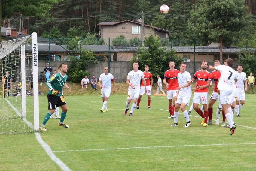
[[108, 73], [108, 67], [104, 67], [104, 73], [99, 76], [99, 87], [101, 88], [100, 96], [102, 97], [103, 106], [101, 112], [108, 112], [107, 102], [111, 93], [111, 82], [113, 83], [113, 93], [116, 91], [114, 76]]

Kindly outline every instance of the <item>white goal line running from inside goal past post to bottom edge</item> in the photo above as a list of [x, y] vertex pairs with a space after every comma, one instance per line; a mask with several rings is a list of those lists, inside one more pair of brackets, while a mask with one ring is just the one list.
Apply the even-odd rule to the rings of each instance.
[[[17, 115], [22, 117], [21, 113], [6, 98], [4, 99], [11, 106], [11, 108], [17, 113]], [[26, 124], [29, 125], [30, 128], [34, 128], [33, 124], [29, 122], [26, 118], [22, 117], [22, 119], [24, 120], [24, 122], [26, 122]], [[61, 160], [59, 160], [59, 158], [57, 158], [56, 155], [53, 154], [50, 146], [48, 146], [48, 144], [42, 140], [42, 137], [40, 136], [39, 132], [35, 132], [35, 137], [38, 143], [43, 147], [47, 155], [60, 167], [61, 170], [65, 170], [65, 171], [71, 170], [69, 169], [69, 167], [66, 166], [66, 164], [64, 164]]]

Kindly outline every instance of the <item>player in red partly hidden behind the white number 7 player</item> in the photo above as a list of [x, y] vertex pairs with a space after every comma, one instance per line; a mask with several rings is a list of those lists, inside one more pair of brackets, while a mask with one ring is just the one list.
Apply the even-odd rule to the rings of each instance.
[[[220, 61], [219, 60], [215, 60], [214, 61], [214, 66], [218, 66], [218, 65], [220, 65], [221, 63], [220, 63]], [[209, 120], [208, 120], [208, 122], [207, 122], [207, 125], [209, 125], [209, 124], [212, 124], [212, 107], [213, 107], [213, 104], [216, 102], [216, 100], [218, 99], [218, 101], [219, 101], [219, 106], [218, 106], [218, 109], [217, 109], [217, 119], [216, 119], [216, 125], [219, 125], [219, 113], [220, 113], [220, 110], [219, 109], [222, 109], [222, 106], [221, 106], [221, 104], [220, 104], [220, 100], [219, 100], [219, 98], [220, 98], [220, 95], [219, 95], [219, 91], [218, 91], [218, 87], [217, 87], [217, 85], [218, 85], [218, 82], [219, 82], [219, 79], [220, 79], [220, 77], [221, 77], [221, 72], [220, 71], [218, 71], [218, 70], [214, 70], [214, 71], [212, 71], [212, 80], [214, 81], [214, 83], [215, 83], [215, 87], [214, 87], [214, 90], [213, 90], [213, 92], [212, 92], [212, 95], [211, 95], [211, 97], [210, 97], [210, 101], [209, 101], [209, 104], [208, 104], [208, 116], [209, 116]], [[221, 124], [221, 126], [225, 126], [225, 121], [226, 121], [226, 116], [225, 116], [225, 113], [224, 112], [222, 112], [223, 113], [223, 121], [222, 121], [222, 124]]]

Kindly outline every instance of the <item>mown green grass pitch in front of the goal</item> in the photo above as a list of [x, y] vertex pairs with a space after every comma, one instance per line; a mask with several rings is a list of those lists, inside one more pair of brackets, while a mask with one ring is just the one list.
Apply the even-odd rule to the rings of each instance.
[[[99, 95], [65, 99], [69, 107], [65, 122], [70, 128], [59, 127], [59, 119], [50, 119], [46, 124], [48, 131], [39, 136], [55, 156], [43, 149], [35, 133], [0, 134], [0, 170], [245, 171], [256, 168], [254, 95], [246, 94], [242, 117], [234, 117], [237, 129], [232, 136], [229, 128], [215, 125], [215, 121], [202, 127], [194, 110], [190, 127], [183, 127], [186, 123], [183, 114], [179, 115], [178, 126], [170, 127], [174, 122], [168, 118], [166, 96], [152, 95], [152, 110], [147, 109], [146, 95], [142, 96], [140, 108], [134, 111], [133, 117], [123, 115], [126, 95], [111, 94], [105, 113], [99, 111], [102, 107]], [[48, 111], [46, 96], [40, 96], [39, 103], [41, 124]], [[216, 119], [215, 110], [212, 118]]]

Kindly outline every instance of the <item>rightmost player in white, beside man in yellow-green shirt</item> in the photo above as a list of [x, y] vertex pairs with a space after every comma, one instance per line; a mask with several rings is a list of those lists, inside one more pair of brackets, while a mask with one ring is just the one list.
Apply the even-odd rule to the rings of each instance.
[[[241, 64], [237, 65], [236, 74], [238, 80], [236, 82], [237, 94], [236, 94], [236, 114], [237, 117], [241, 117], [240, 109], [245, 104], [245, 91], [247, 91], [247, 78], [246, 73], [242, 72], [243, 67]], [[240, 101], [240, 104], [239, 104]]]

